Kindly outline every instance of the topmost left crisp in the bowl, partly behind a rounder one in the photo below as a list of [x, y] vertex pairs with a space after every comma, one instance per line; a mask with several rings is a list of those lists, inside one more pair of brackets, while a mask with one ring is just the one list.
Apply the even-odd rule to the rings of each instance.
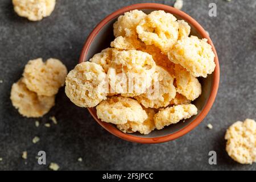
[[119, 16], [117, 22], [114, 23], [114, 36], [131, 37], [137, 36], [136, 27], [142, 19], [146, 18], [146, 14], [140, 10], [132, 10]]

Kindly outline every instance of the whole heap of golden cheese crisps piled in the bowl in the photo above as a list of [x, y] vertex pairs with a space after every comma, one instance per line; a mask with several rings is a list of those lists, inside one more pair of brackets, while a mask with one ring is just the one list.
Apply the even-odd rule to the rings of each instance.
[[[209, 44], [189, 37], [189, 24], [164, 11], [146, 15], [133, 10], [119, 16], [113, 27], [112, 48], [81, 63], [96, 64], [101, 79], [96, 76], [100, 73], [91, 76], [94, 69], [81, 64], [80, 71], [76, 67], [69, 73], [66, 93], [71, 101], [81, 107], [97, 105], [98, 118], [124, 133], [149, 134], [196, 115], [191, 102], [202, 92], [196, 77], [207, 76], [215, 67]], [[180, 57], [173, 56], [177, 54]], [[102, 82], [110, 86], [109, 93], [96, 92]]]

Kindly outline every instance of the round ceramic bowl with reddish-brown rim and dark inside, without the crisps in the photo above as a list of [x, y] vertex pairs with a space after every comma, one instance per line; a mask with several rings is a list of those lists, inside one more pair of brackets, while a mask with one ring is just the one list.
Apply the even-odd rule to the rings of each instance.
[[98, 53], [102, 49], [109, 47], [110, 42], [114, 40], [113, 23], [117, 20], [118, 16], [122, 15], [127, 11], [135, 9], [142, 10], [146, 14], [154, 10], [164, 10], [167, 13], [171, 13], [176, 16], [177, 19], [184, 19], [186, 22], [188, 22], [188, 24], [191, 26], [191, 35], [196, 35], [199, 38], [208, 39], [208, 43], [212, 46], [213, 51], [216, 55], [214, 60], [216, 63], [216, 68], [212, 75], [209, 75], [207, 78], [199, 78], [203, 92], [201, 96], [196, 99], [196, 101], [193, 101], [193, 104], [196, 105], [199, 112], [192, 118], [186, 119], [185, 122], [179, 122], [176, 125], [170, 125], [168, 127], [165, 127], [163, 130], [154, 130], [148, 135], [141, 135], [138, 133], [122, 133], [122, 131], [119, 131], [114, 125], [102, 122], [100, 119], [98, 119], [95, 108], [88, 108], [88, 110], [90, 114], [92, 114], [93, 118], [96, 119], [96, 121], [102, 127], [104, 127], [104, 129], [108, 130], [110, 133], [119, 138], [128, 140], [130, 142], [138, 143], [167, 142], [187, 134], [189, 131], [199, 125], [199, 123], [203, 121], [203, 119], [208, 114], [210, 107], [212, 107], [215, 97], [217, 95], [218, 84], [220, 81], [220, 67], [218, 64], [218, 56], [216, 53], [216, 49], [213, 46], [212, 40], [210, 40], [204, 28], [201, 27], [195, 19], [191, 18], [191, 16], [171, 6], [161, 5], [157, 3], [142, 3], [123, 7], [122, 9], [115, 11], [114, 13], [108, 15], [105, 19], [103, 19], [94, 28], [94, 30], [86, 40], [84, 48], [81, 52], [79, 63], [89, 60], [95, 53]]

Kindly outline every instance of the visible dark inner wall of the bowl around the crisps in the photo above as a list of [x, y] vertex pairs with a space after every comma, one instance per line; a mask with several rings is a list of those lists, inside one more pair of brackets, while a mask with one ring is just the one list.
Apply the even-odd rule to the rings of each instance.
[[[144, 13], [149, 14], [151, 11], [155, 11], [154, 9], [142, 9]], [[175, 15], [177, 19], [182, 19], [179, 16]], [[105, 24], [104, 27], [101, 28], [100, 32], [96, 35], [93, 42], [90, 44], [89, 51], [85, 57], [84, 61], [88, 61], [93, 55], [95, 55], [98, 52], [101, 52], [102, 49], [110, 47], [110, 42], [114, 40], [113, 35], [113, 23], [117, 20], [118, 17], [110, 20], [108, 23]], [[199, 34], [199, 32], [196, 31], [196, 28], [192, 26], [188, 22], [188, 24], [191, 26], [191, 35], [198, 36], [200, 39], [202, 36]], [[198, 109], [198, 114], [203, 110], [205, 104], [208, 101], [208, 98], [210, 96], [210, 92], [213, 85], [213, 74], [209, 75], [207, 78], [199, 78], [199, 81], [202, 85], [202, 94], [199, 98], [197, 98], [195, 101], [192, 102], [192, 104], [195, 104]], [[93, 108], [92, 112], [96, 114], [96, 109]], [[198, 115], [197, 114], [197, 115]], [[137, 137], [142, 138], [154, 138], [154, 137], [164, 137], [166, 135], [170, 135], [173, 133], [176, 133], [177, 131], [183, 129], [185, 126], [189, 125], [196, 117], [197, 115], [194, 115], [193, 117], [186, 119], [184, 122], [180, 121], [176, 125], [170, 125], [168, 127], [164, 127], [163, 130], [154, 130], [148, 135], [141, 135], [139, 133], [133, 133], [128, 135], [133, 135]], [[111, 125], [111, 124], [109, 124]], [[112, 127], [115, 127], [114, 125]]]

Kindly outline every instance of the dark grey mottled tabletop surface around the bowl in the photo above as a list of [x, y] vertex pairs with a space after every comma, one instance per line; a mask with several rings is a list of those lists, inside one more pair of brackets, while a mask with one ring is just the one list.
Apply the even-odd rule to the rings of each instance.
[[[13, 82], [22, 75], [30, 59], [56, 57], [72, 69], [80, 51], [98, 22], [122, 6], [174, 1], [57, 0], [52, 15], [29, 22], [13, 11], [10, 0], [0, 2], [0, 169], [46, 170], [50, 162], [61, 170], [74, 169], [213, 169], [255, 170], [256, 164], [241, 165], [225, 152], [228, 126], [246, 118], [256, 119], [256, 1], [232, 2], [184, 0], [183, 11], [210, 33], [217, 49], [221, 81], [218, 96], [204, 121], [191, 133], [162, 144], [137, 144], [121, 140], [102, 129], [86, 109], [73, 105], [62, 88], [56, 106], [42, 119], [23, 118], [10, 102]], [[217, 3], [217, 17], [208, 16], [210, 2]], [[43, 126], [55, 115], [58, 125]], [[206, 125], [212, 123], [213, 130]], [[40, 137], [33, 144], [32, 138]], [[47, 165], [39, 166], [35, 156], [44, 150]], [[208, 164], [208, 152], [217, 152], [217, 165]], [[22, 151], [28, 159], [21, 158]], [[83, 162], [77, 162], [82, 157]], [[25, 164], [27, 162], [27, 164]]]

